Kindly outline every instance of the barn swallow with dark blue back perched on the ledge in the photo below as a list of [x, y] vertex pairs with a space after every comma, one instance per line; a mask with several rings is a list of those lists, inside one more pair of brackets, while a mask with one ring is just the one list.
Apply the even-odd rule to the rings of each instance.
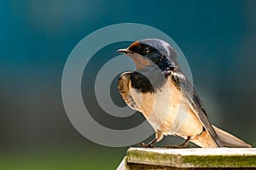
[[202, 148], [249, 148], [230, 133], [212, 126], [195, 88], [183, 74], [177, 53], [170, 44], [160, 39], [133, 42], [119, 49], [136, 65], [135, 71], [126, 71], [119, 77], [119, 94], [131, 109], [139, 111], [154, 128], [155, 138], [145, 147], [164, 135], [177, 135]]

